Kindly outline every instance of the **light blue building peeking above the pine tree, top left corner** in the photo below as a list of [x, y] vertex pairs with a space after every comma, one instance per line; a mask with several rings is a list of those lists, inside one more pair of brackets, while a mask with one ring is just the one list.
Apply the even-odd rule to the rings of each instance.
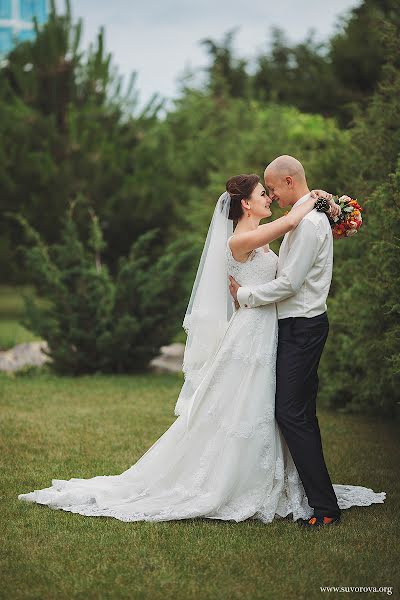
[[44, 23], [47, 11], [47, 0], [0, 0], [0, 55], [7, 54], [15, 42], [33, 39], [32, 19]]

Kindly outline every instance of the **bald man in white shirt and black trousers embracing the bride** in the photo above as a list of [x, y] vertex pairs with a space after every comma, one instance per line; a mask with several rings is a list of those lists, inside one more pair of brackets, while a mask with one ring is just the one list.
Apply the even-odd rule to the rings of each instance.
[[[279, 156], [264, 172], [269, 195], [281, 208], [298, 206], [310, 190], [302, 164]], [[277, 278], [241, 287], [230, 277], [230, 291], [242, 308], [277, 302], [279, 338], [275, 415], [314, 508], [306, 527], [333, 525], [340, 508], [325, 464], [316, 415], [318, 364], [328, 337], [326, 299], [333, 266], [333, 237], [326, 215], [316, 210], [287, 233], [279, 251]]]

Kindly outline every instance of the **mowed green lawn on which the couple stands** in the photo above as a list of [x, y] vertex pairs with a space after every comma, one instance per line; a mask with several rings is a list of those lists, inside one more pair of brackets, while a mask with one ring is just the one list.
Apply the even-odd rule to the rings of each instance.
[[297, 600], [321, 598], [327, 585], [392, 586], [396, 597], [394, 422], [320, 411], [333, 482], [387, 492], [384, 504], [344, 511], [335, 528], [304, 531], [290, 519], [123, 523], [17, 500], [52, 478], [127, 469], [174, 421], [180, 385], [174, 376], [0, 376], [1, 598]]

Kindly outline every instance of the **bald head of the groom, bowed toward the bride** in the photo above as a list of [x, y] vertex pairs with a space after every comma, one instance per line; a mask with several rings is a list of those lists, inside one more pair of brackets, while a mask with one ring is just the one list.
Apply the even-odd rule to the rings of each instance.
[[294, 204], [309, 192], [304, 167], [297, 158], [283, 154], [264, 171], [265, 185], [281, 208]]

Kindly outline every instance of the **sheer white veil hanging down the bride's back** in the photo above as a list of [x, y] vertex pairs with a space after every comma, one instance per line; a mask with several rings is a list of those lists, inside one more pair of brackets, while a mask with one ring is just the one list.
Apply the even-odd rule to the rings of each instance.
[[185, 381], [175, 406], [177, 416], [202, 380], [233, 314], [226, 265], [226, 244], [233, 233], [230, 203], [228, 192], [218, 198], [182, 323], [187, 333], [182, 367]]

